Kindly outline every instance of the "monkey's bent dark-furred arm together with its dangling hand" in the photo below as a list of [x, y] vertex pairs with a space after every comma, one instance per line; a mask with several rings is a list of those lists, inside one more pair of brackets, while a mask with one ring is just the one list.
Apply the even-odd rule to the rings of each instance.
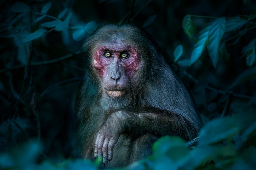
[[158, 137], [178, 135], [185, 140], [196, 137], [198, 129], [180, 114], [151, 107], [132, 107], [115, 111], [104, 121], [95, 142], [94, 158], [103, 157], [103, 164], [112, 160], [114, 144], [123, 133], [133, 136], [152, 134]]

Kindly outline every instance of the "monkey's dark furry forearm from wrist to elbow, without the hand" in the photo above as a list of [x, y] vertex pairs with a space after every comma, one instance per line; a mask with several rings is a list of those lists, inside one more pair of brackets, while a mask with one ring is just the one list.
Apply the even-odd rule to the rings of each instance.
[[[198, 130], [189, 120], [179, 114], [157, 108], [136, 108], [131, 111], [117, 111], [112, 122], [120, 122], [123, 133], [133, 136], [152, 134], [156, 136], [177, 135], [186, 141], [195, 138]], [[185, 132], [185, 133], [184, 133]]]

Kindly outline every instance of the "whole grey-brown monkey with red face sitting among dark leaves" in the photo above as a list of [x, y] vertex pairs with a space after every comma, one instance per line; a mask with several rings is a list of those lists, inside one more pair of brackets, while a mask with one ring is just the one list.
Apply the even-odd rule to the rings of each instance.
[[202, 120], [154, 38], [131, 24], [100, 26], [83, 44], [85, 78], [75, 99], [77, 154], [124, 167], [152, 154], [161, 136], [192, 140]]

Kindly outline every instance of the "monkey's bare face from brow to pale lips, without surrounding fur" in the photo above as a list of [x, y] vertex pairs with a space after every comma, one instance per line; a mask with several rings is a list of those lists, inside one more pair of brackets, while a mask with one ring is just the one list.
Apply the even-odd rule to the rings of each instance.
[[116, 34], [108, 38], [108, 42], [101, 42], [95, 48], [92, 65], [100, 77], [103, 93], [117, 98], [131, 91], [141, 62], [133, 45], [124, 38]]

